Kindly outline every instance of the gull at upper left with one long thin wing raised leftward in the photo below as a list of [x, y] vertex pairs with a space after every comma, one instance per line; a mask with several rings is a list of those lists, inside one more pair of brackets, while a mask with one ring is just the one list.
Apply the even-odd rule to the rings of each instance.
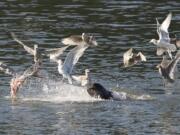
[[10, 34], [11, 34], [12, 38], [13, 38], [17, 43], [19, 43], [20, 45], [22, 45], [23, 48], [24, 48], [29, 54], [31, 54], [31, 55], [34, 56], [34, 62], [35, 62], [35, 63], [37, 63], [37, 61], [39, 61], [39, 63], [42, 62], [42, 54], [40, 53], [37, 44], [34, 45], [34, 49], [33, 49], [33, 48], [28, 47], [27, 45], [25, 45], [22, 41], [20, 41], [13, 32], [11, 32]]

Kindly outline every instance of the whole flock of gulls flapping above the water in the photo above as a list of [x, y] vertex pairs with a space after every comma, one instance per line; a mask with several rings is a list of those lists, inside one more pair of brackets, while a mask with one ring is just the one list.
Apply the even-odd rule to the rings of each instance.
[[[156, 67], [164, 80], [164, 85], [175, 81], [176, 65], [180, 59], [180, 51], [178, 51], [178, 48], [180, 47], [180, 40], [177, 38], [170, 38], [168, 32], [171, 19], [172, 13], [167, 15], [162, 24], [160, 24], [156, 18], [157, 34], [159, 39], [150, 40], [150, 43], [153, 43], [157, 47], [156, 54], [158, 56], [162, 56], [162, 62]], [[34, 57], [33, 65], [26, 69], [23, 73], [15, 72], [4, 62], [0, 61], [0, 71], [12, 76], [10, 81], [10, 95], [12, 99], [16, 98], [17, 92], [27, 78], [33, 76], [41, 78], [39, 71], [44, 57], [48, 57], [51, 62], [57, 63], [57, 70], [59, 74], [62, 75], [63, 82], [67, 79], [69, 84], [74, 84], [74, 82], [79, 83], [81, 86], [89, 86], [92, 84], [89, 69], [85, 70], [85, 75], [73, 75], [73, 68], [86, 49], [98, 46], [94, 36], [86, 33], [82, 33], [82, 35], [72, 35], [61, 40], [64, 44], [63, 47], [46, 49], [43, 52], [40, 52], [39, 47], [36, 44], [34, 45], [34, 48], [25, 45], [13, 32], [11, 32], [11, 36], [14, 41], [20, 44], [27, 51], [27, 53]], [[66, 58], [63, 61], [61, 56], [70, 46], [73, 48], [67, 53]], [[173, 56], [173, 52], [176, 52], [175, 56]], [[147, 61], [146, 56], [143, 55], [142, 52], [134, 53], [133, 48], [127, 50], [123, 55], [123, 63], [126, 68], [129, 68], [141, 61]]]

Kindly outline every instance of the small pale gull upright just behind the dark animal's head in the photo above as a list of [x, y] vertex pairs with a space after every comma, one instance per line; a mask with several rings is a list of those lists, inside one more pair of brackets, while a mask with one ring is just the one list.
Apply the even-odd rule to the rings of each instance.
[[85, 75], [79, 75], [79, 76], [73, 75], [72, 78], [73, 80], [80, 83], [81, 86], [86, 86], [89, 80], [89, 72], [90, 72], [89, 69], [85, 69]]

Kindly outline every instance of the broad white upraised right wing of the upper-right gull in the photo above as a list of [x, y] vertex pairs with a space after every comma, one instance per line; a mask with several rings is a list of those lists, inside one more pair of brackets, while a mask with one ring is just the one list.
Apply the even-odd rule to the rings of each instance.
[[169, 13], [159, 28], [159, 40], [170, 43], [168, 28], [171, 23], [172, 13]]

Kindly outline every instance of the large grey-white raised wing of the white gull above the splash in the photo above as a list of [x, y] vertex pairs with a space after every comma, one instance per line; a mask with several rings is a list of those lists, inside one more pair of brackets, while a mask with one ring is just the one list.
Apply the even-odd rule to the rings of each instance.
[[84, 54], [84, 51], [88, 48], [88, 46], [79, 45], [73, 48], [66, 56], [63, 70], [68, 74], [72, 73], [74, 65], [78, 62], [79, 58]]

